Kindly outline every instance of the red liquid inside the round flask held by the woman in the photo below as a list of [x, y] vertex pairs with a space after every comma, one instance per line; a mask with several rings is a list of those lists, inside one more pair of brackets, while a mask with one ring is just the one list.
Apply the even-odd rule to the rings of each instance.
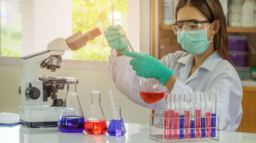
[[140, 92], [140, 97], [147, 104], [153, 104], [164, 97], [164, 92]]

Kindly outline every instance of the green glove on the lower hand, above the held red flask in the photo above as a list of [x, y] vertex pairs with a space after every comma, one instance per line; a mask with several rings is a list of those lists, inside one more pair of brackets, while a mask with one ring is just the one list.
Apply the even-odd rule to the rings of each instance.
[[134, 58], [130, 61], [136, 75], [144, 78], [156, 78], [163, 85], [167, 79], [173, 75], [174, 71], [164, 66], [160, 61], [148, 54], [125, 51], [125, 56]]

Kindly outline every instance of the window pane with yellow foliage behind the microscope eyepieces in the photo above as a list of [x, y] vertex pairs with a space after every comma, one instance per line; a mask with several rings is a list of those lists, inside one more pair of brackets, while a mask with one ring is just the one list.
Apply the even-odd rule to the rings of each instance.
[[102, 35], [88, 42], [85, 47], [72, 51], [72, 59], [108, 61], [111, 48], [103, 32], [109, 25], [116, 24], [120, 24], [127, 31], [127, 0], [73, 0], [72, 32], [86, 33], [99, 27]]

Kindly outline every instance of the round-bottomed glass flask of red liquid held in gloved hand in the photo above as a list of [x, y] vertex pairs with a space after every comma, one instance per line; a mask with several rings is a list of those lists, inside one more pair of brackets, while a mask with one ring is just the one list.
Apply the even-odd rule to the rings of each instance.
[[164, 97], [166, 88], [156, 78], [140, 78], [140, 97], [147, 104], [153, 104]]

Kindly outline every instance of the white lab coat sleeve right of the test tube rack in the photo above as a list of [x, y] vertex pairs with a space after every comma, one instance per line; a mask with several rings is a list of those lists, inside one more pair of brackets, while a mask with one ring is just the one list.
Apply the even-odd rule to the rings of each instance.
[[217, 93], [216, 112], [220, 118], [220, 130], [236, 131], [243, 114], [241, 104], [243, 90], [238, 75], [225, 72], [217, 76], [212, 82], [209, 93]]

